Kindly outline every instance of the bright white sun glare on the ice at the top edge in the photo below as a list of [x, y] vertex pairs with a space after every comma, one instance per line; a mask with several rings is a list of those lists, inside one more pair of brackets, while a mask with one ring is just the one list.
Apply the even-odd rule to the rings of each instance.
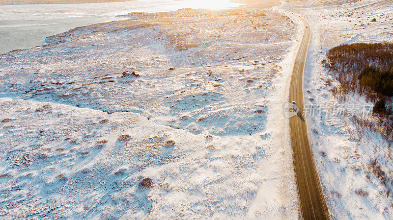
[[184, 8], [206, 8], [206, 9], [224, 9], [237, 7], [240, 4], [230, 2], [230, 0], [184, 0]]

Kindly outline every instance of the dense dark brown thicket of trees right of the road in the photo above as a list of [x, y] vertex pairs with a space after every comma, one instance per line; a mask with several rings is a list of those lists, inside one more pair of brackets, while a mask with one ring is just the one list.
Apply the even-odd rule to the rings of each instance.
[[326, 56], [328, 61], [323, 60], [322, 64], [336, 75], [341, 84], [337, 91], [344, 100], [355, 92], [374, 103], [393, 95], [393, 44], [340, 45]]

